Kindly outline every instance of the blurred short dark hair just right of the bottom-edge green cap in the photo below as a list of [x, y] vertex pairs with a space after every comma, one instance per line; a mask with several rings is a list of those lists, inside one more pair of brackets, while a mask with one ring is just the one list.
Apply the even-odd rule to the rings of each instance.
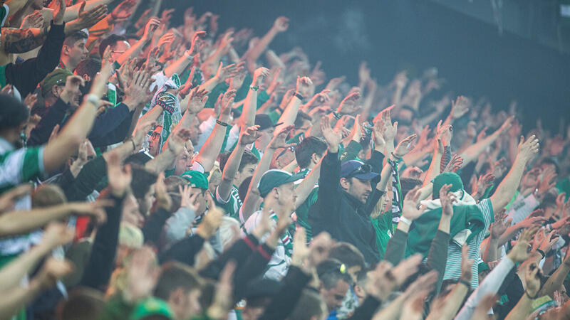
[[166, 262], [162, 265], [160, 276], [155, 287], [155, 297], [168, 301], [170, 294], [182, 287], [185, 292], [200, 289], [202, 280], [198, 273], [180, 262]]

